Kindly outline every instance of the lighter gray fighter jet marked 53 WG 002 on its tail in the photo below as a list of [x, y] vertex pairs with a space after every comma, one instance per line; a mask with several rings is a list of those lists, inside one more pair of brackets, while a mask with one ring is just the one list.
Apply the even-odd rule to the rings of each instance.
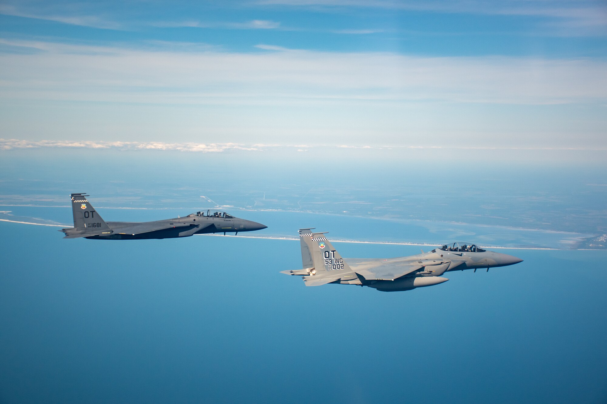
[[348, 258], [345, 260], [325, 237], [326, 232], [313, 233], [300, 229], [304, 269], [281, 271], [287, 275], [302, 275], [305, 286], [326, 283], [358, 284], [382, 292], [410, 291], [432, 286], [449, 279], [441, 277], [447, 271], [489, 268], [520, 263], [520, 258], [486, 251], [475, 244], [453, 243], [410, 257]]

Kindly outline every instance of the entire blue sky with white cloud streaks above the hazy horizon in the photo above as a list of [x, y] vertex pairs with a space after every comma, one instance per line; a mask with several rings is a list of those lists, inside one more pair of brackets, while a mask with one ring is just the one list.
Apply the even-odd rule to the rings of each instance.
[[0, 13], [0, 137], [28, 147], [607, 149], [604, 2], [7, 1]]

